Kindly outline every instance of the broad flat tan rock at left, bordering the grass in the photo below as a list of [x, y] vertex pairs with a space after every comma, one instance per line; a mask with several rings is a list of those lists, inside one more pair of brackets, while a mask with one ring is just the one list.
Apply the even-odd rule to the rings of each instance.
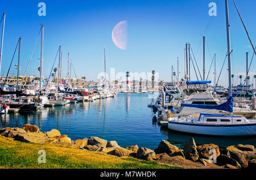
[[43, 132], [26, 132], [19, 133], [14, 136], [14, 140], [26, 143], [46, 143], [48, 137]]

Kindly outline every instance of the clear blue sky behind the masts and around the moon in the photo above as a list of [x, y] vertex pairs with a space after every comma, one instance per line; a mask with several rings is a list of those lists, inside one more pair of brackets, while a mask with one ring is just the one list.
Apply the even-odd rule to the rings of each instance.
[[[46, 16], [38, 16], [38, 3], [46, 3]], [[210, 2], [217, 3], [217, 16], [209, 16]], [[256, 24], [254, 0], [236, 0], [243, 20], [256, 45]], [[246, 52], [249, 61], [253, 50], [242, 23], [233, 5], [229, 2], [232, 39], [232, 73], [234, 82], [240, 82], [238, 74], [245, 73]], [[106, 48], [107, 71], [115, 72], [159, 72], [160, 80], [171, 81], [171, 66], [177, 68], [180, 59], [180, 78], [184, 76], [184, 48], [189, 42], [195, 53], [200, 71], [203, 70], [203, 35], [206, 36], [206, 75], [213, 54], [217, 57], [217, 75], [220, 72], [227, 51], [224, 0], [189, 1], [1, 1], [0, 13], [6, 12], [5, 39], [1, 75], [6, 74], [14, 53], [16, 42], [22, 36], [20, 74], [24, 74], [41, 25], [44, 24], [44, 69], [48, 78], [57, 49], [63, 50], [63, 76], [67, 75], [68, 52], [77, 78], [96, 80], [104, 72], [104, 48]], [[117, 48], [112, 41], [114, 26], [127, 20], [127, 49]], [[210, 22], [209, 28], [207, 28]], [[208, 31], [205, 33], [205, 31]], [[2, 32], [2, 31], [1, 31]], [[39, 75], [40, 41], [36, 45], [27, 75]], [[58, 59], [57, 59], [58, 60]], [[18, 62], [18, 56], [14, 63]], [[255, 62], [255, 59], [253, 60]], [[57, 67], [57, 61], [55, 64]], [[192, 79], [196, 80], [191, 67]], [[227, 69], [221, 75], [220, 83], [227, 85]], [[251, 66], [251, 82], [256, 74], [255, 63]], [[14, 65], [11, 75], [16, 74]], [[74, 72], [72, 72], [75, 78]], [[209, 79], [213, 80], [213, 68]], [[238, 79], [238, 80], [237, 80]]]

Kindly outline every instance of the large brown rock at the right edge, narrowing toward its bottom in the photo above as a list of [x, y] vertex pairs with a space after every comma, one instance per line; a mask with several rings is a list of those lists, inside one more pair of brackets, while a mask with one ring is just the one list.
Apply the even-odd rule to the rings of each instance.
[[238, 149], [235, 145], [230, 145], [226, 147], [230, 153], [230, 157], [236, 160], [242, 168], [247, 168], [250, 160], [256, 158], [256, 151], [242, 151]]

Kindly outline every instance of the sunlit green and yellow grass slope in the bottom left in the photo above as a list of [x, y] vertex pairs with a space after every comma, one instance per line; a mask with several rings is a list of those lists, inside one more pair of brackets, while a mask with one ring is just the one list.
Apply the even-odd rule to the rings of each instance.
[[[46, 151], [46, 164], [39, 164], [38, 151]], [[170, 169], [176, 166], [143, 161], [133, 157], [115, 157], [101, 152], [53, 144], [16, 142], [0, 137], [0, 168], [25, 169]]]

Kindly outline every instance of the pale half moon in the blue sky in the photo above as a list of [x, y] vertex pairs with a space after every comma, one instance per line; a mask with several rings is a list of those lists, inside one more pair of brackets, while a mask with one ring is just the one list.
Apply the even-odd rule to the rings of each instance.
[[128, 39], [128, 32], [127, 32], [128, 23], [126, 20], [119, 22], [112, 31], [112, 40], [114, 44], [120, 48], [125, 50], [127, 47], [127, 39]]

